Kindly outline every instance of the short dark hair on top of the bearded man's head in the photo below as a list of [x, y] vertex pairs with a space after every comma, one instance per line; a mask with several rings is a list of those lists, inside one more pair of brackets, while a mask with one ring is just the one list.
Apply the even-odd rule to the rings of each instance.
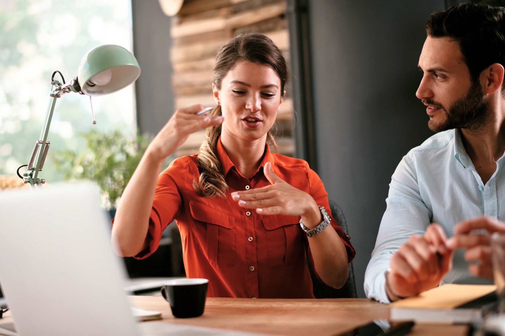
[[491, 64], [505, 67], [505, 8], [459, 4], [430, 15], [426, 32], [460, 43], [473, 82]]

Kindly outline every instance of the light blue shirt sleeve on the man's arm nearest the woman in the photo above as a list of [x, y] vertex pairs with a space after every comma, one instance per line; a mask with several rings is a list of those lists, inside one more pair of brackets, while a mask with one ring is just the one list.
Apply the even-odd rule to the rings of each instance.
[[384, 272], [389, 267], [391, 256], [413, 234], [423, 235], [432, 218], [421, 197], [416, 164], [410, 153], [396, 167], [389, 184], [386, 205], [364, 284], [368, 298], [385, 303], [389, 299], [384, 287]]

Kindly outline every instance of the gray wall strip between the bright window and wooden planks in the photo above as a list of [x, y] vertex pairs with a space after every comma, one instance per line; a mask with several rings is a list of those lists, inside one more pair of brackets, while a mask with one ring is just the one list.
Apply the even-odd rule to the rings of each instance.
[[157, 134], [174, 111], [170, 18], [158, 0], [132, 0], [133, 51], [141, 74], [135, 83], [137, 124]]

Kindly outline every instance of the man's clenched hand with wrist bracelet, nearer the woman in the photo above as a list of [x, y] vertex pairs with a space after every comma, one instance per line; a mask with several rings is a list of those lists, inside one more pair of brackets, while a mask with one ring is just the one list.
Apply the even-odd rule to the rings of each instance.
[[447, 249], [447, 237], [438, 224], [431, 224], [426, 233], [412, 235], [391, 257], [386, 286], [392, 295], [408, 297], [432, 289], [440, 284], [452, 267], [452, 250]]

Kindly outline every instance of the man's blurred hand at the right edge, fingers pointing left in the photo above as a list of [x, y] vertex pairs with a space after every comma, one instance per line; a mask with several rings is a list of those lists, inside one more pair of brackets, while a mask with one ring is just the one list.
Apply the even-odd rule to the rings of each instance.
[[[488, 234], [471, 234], [471, 231], [479, 229], [486, 230]], [[465, 260], [477, 262], [468, 266], [470, 274], [492, 279], [490, 234], [493, 232], [505, 233], [505, 223], [484, 216], [464, 220], [454, 227], [454, 237], [447, 240], [446, 246], [452, 250], [466, 248]]]

